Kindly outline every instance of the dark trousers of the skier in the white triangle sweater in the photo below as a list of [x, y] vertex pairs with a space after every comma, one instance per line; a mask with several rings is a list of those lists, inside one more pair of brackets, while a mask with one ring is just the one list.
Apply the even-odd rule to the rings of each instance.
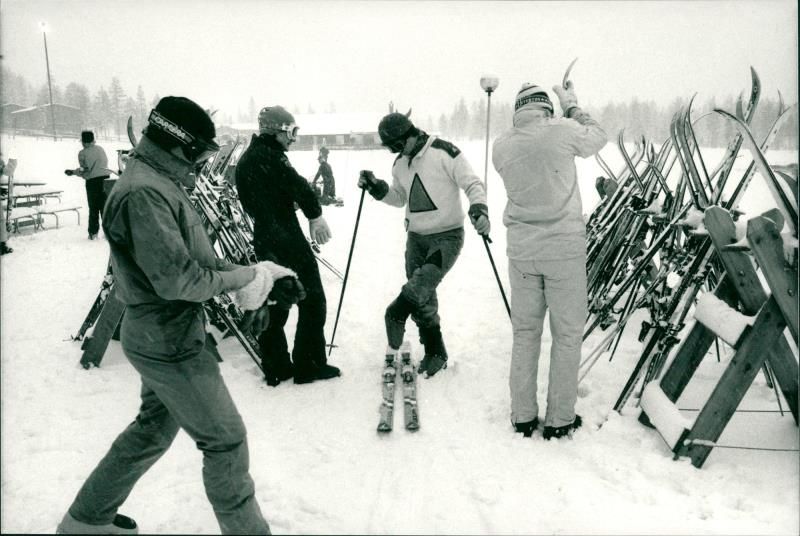
[[401, 294], [417, 306], [411, 319], [421, 328], [439, 325], [436, 287], [458, 259], [464, 245], [464, 228], [421, 235], [408, 233], [406, 277]]

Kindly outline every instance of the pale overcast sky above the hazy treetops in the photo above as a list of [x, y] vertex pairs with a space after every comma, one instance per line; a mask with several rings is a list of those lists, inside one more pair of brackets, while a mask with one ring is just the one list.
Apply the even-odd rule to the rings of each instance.
[[460, 97], [510, 101], [523, 82], [548, 90], [569, 62], [579, 102], [636, 96], [666, 104], [749, 90], [797, 100], [793, 0], [627, 2], [345, 2], [254, 0], [2, 0], [4, 65], [46, 82], [39, 22], [48, 25], [54, 81], [94, 94], [117, 76], [237, 114], [283, 104], [383, 112], [389, 100], [418, 117], [449, 113]]

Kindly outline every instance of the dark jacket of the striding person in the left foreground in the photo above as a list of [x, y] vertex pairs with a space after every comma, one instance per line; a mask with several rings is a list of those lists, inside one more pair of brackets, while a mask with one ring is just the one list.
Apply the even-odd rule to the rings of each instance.
[[239, 286], [228, 271], [236, 265], [216, 258], [180, 184], [191, 171], [145, 136], [106, 202], [114, 286], [128, 306], [126, 351], [171, 361], [196, 355], [205, 342], [202, 302]]

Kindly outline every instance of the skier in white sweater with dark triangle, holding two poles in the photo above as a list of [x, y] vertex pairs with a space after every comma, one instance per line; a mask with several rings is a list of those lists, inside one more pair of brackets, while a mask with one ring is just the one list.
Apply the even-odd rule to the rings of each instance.
[[425, 347], [418, 372], [431, 377], [447, 367], [436, 288], [464, 245], [465, 214], [459, 189], [469, 199], [472, 225], [479, 234], [488, 235], [486, 189], [458, 147], [418, 129], [406, 114], [385, 116], [378, 134], [383, 146], [398, 154], [392, 166], [392, 185], [369, 170], [361, 172], [358, 185], [388, 205], [406, 206], [408, 231], [408, 281], [386, 309], [386, 335], [389, 346], [398, 350], [411, 316]]

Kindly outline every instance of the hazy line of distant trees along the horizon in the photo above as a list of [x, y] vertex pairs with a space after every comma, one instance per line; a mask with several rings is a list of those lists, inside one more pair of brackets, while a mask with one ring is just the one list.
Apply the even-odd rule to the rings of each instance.
[[[49, 89], [46, 83], [33, 87], [24, 77], [17, 75], [5, 67], [2, 69], [2, 103], [14, 103], [22, 106], [36, 106], [50, 102]], [[117, 77], [111, 78], [107, 88], [92, 92], [83, 84], [70, 82], [65, 88], [53, 84], [53, 102], [74, 106], [81, 110], [82, 124], [93, 129], [100, 136], [120, 137], [125, 132], [127, 119], [133, 116], [134, 124], [144, 125], [150, 108], [159, 101], [155, 95], [148, 99], [142, 86], [136, 88], [135, 95], [129, 95], [123, 89]], [[685, 106], [686, 99], [676, 98], [668, 106], [658, 105], [652, 100], [641, 100], [636, 97], [627, 102], [609, 102], [601, 108], [587, 107], [587, 111], [597, 119], [612, 141], [616, 141], [621, 130], [628, 142], [644, 136], [649, 141], [660, 144], [669, 137], [669, 126], [674, 114]], [[556, 107], [558, 103], [556, 102]], [[751, 122], [751, 130], [757, 140], [766, 136], [770, 126], [777, 117], [780, 101], [775, 97], [762, 97], [756, 114]], [[327, 112], [334, 112], [331, 102], [323, 107]], [[736, 100], [727, 96], [723, 100], [709, 98], [706, 101], [695, 101], [693, 119], [695, 135], [699, 143], [705, 147], [724, 147], [734, 137], [735, 131], [729, 121], [719, 114], [707, 114], [714, 108], [722, 108], [729, 112], [736, 109]], [[293, 110], [300, 111], [298, 106]], [[513, 103], [493, 101], [490, 121], [490, 136], [496, 138], [511, 125], [514, 115]], [[258, 108], [255, 99], [250, 97], [244, 109], [236, 114], [236, 120], [244, 123], [255, 123]], [[314, 113], [312, 105], [308, 105], [308, 113]], [[230, 114], [218, 114], [215, 120], [220, 124], [233, 123]], [[486, 99], [475, 99], [469, 105], [462, 97], [454, 105], [453, 110], [441, 113], [438, 117], [428, 116], [415, 118], [415, 122], [429, 132], [437, 132], [451, 139], [484, 139], [486, 136]], [[773, 145], [775, 149], [796, 149], [798, 147], [797, 110], [788, 118]]]

